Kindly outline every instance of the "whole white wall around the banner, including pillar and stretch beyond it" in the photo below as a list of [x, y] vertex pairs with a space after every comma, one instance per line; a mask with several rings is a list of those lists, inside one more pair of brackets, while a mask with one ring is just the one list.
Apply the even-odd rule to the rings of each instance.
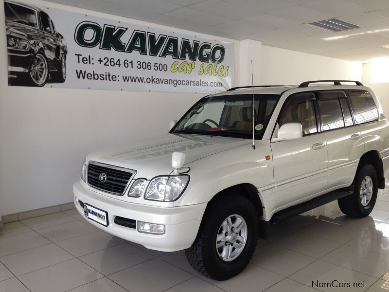
[[[31, 3], [63, 7], [40, 0], [31, 0]], [[170, 120], [179, 118], [203, 96], [9, 87], [3, 9], [1, 0], [1, 215], [71, 202], [72, 184], [79, 179], [81, 163], [88, 152], [165, 133]], [[67, 9], [125, 19], [74, 7]], [[323, 78], [361, 79], [359, 63], [261, 46], [253, 40], [235, 40], [234, 44], [234, 86], [251, 85], [251, 59], [254, 84], [298, 84]]]

